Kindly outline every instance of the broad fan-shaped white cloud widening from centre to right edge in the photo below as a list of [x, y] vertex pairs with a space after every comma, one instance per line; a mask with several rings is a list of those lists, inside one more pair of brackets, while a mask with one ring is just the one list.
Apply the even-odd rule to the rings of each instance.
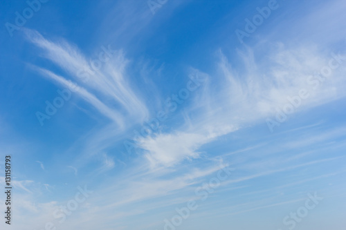
[[314, 47], [286, 48], [284, 44], [270, 43], [267, 46], [271, 49], [264, 59], [258, 59], [262, 51], [255, 48], [237, 50], [243, 64], [238, 68], [218, 51], [217, 73], [208, 77], [206, 86], [183, 112], [185, 123], [175, 131], [149, 136], [140, 143], [152, 166], [170, 166], [198, 158], [203, 144], [274, 117], [277, 108], [282, 108], [289, 102], [287, 98], [298, 95], [301, 89], [308, 90], [311, 97], [302, 100], [295, 112], [345, 97], [346, 63], [314, 89], [309, 77], [328, 64], [332, 55]]

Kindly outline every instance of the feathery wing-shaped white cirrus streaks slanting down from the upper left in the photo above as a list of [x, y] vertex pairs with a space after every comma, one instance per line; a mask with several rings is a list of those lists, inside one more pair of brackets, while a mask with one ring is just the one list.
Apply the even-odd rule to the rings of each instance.
[[[131, 122], [143, 122], [147, 117], [147, 108], [131, 90], [129, 82], [125, 79], [125, 68], [127, 59], [122, 51], [112, 50], [108, 47], [100, 52], [99, 59], [88, 61], [77, 47], [60, 39], [60, 41], [48, 41], [35, 30], [24, 30], [28, 41], [42, 48], [44, 57], [53, 61], [57, 66], [66, 71], [72, 79], [77, 82], [78, 94], [87, 102], [93, 104], [98, 110], [111, 117], [122, 126], [125, 117], [131, 117]], [[108, 55], [108, 59], [103, 57]], [[99, 65], [104, 61], [102, 68]], [[71, 86], [71, 80], [61, 77], [50, 70], [37, 68], [44, 76], [50, 77], [54, 82], [63, 84], [64, 87]], [[76, 85], [77, 85], [76, 84]], [[92, 92], [92, 93], [91, 93]], [[100, 102], [107, 100], [113, 103], [105, 105]], [[119, 113], [118, 111], [121, 111]]]

